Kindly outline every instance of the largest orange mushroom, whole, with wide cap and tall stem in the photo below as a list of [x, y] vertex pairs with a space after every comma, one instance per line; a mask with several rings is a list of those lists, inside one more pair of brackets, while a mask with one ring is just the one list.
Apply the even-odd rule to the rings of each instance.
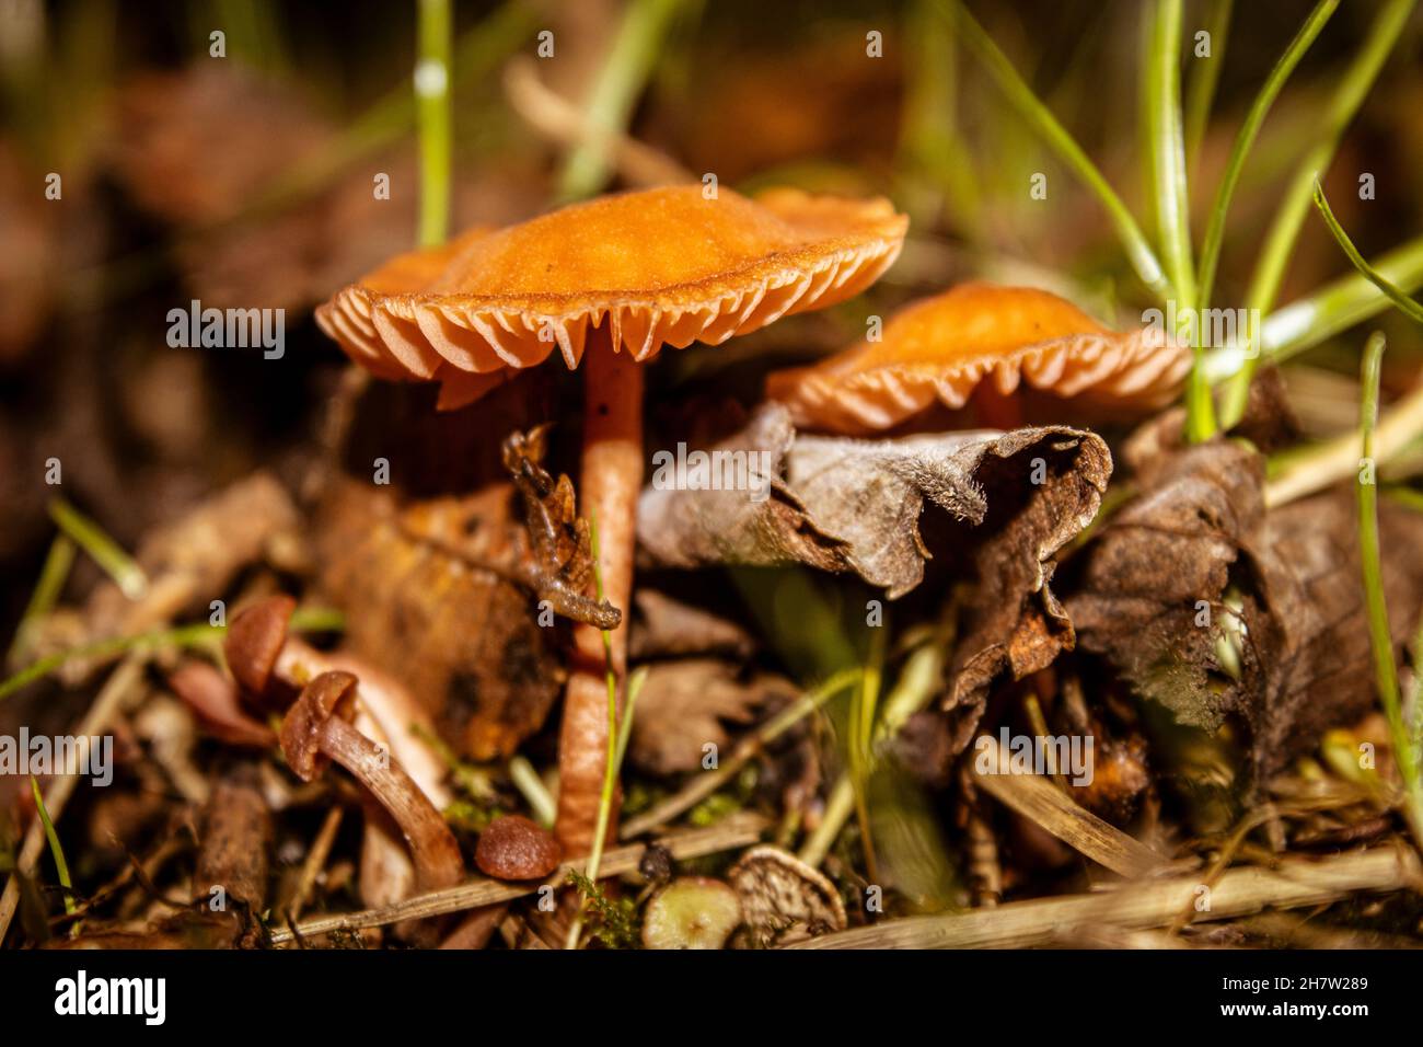
[[[639, 365], [663, 345], [717, 345], [859, 293], [898, 256], [906, 225], [884, 199], [794, 189], [707, 198], [696, 185], [629, 192], [406, 255], [339, 292], [317, 323], [376, 375], [440, 382], [445, 409], [555, 346], [569, 369], [586, 355], [583, 509], [599, 533], [605, 597], [626, 611], [643, 470]], [[605, 674], [625, 677], [626, 632], [613, 631], [608, 660], [599, 630], [573, 631], [555, 825], [571, 853], [586, 852], [595, 833]]]

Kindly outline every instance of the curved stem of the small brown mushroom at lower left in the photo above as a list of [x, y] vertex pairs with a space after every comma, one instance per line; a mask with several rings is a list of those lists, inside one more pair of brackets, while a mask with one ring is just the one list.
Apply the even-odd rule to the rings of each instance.
[[454, 833], [425, 795], [388, 754], [340, 717], [322, 724], [317, 746], [370, 789], [400, 826], [416, 863], [421, 890], [440, 890], [464, 879]]

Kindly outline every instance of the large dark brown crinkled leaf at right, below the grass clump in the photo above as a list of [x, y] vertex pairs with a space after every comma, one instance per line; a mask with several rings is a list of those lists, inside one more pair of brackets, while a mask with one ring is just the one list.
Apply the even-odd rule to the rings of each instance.
[[[1083, 648], [1181, 724], [1238, 715], [1264, 775], [1362, 715], [1373, 675], [1353, 491], [1266, 513], [1262, 459], [1231, 442], [1164, 454], [1138, 479], [1067, 601]], [[1423, 541], [1419, 514], [1385, 501], [1379, 517], [1386, 551]], [[1385, 588], [1402, 644], [1423, 597], [1417, 557], [1386, 554]]]

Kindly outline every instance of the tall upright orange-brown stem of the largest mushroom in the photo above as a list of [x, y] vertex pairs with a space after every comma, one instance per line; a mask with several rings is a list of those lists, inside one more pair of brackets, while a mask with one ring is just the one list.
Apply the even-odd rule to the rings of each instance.
[[[595, 332], [598, 338], [606, 333]], [[609, 632], [612, 665], [602, 631], [573, 628], [573, 662], [564, 697], [558, 749], [558, 821], [554, 832], [568, 855], [585, 855], [598, 826], [598, 806], [608, 766], [608, 670], [619, 681], [628, 670], [628, 607], [638, 493], [642, 489], [642, 365], [632, 353], [589, 345], [583, 356], [585, 416], [582, 490], [583, 516], [598, 527], [598, 571], [603, 600], [623, 611], [623, 624]], [[619, 688], [618, 711], [622, 714]], [[620, 788], [615, 788], [608, 832], [616, 836]]]

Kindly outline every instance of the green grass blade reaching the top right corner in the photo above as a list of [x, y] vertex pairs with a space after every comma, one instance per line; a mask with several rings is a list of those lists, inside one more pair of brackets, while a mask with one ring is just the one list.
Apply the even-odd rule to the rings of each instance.
[[[1265, 236], [1265, 246], [1245, 295], [1245, 308], [1251, 311], [1251, 315], [1262, 316], [1275, 305], [1275, 296], [1285, 278], [1285, 266], [1294, 252], [1295, 239], [1299, 236], [1305, 215], [1309, 214], [1315, 179], [1329, 167], [1345, 128], [1373, 87], [1383, 63], [1402, 36], [1403, 26], [1416, 0], [1387, 0], [1375, 17], [1363, 47], [1345, 71], [1321, 121], [1319, 138], [1285, 189], [1279, 211]], [[1259, 353], [1247, 353], [1244, 366], [1227, 386], [1222, 407], [1227, 426], [1235, 424], [1245, 413], [1249, 383], [1258, 365]]]

